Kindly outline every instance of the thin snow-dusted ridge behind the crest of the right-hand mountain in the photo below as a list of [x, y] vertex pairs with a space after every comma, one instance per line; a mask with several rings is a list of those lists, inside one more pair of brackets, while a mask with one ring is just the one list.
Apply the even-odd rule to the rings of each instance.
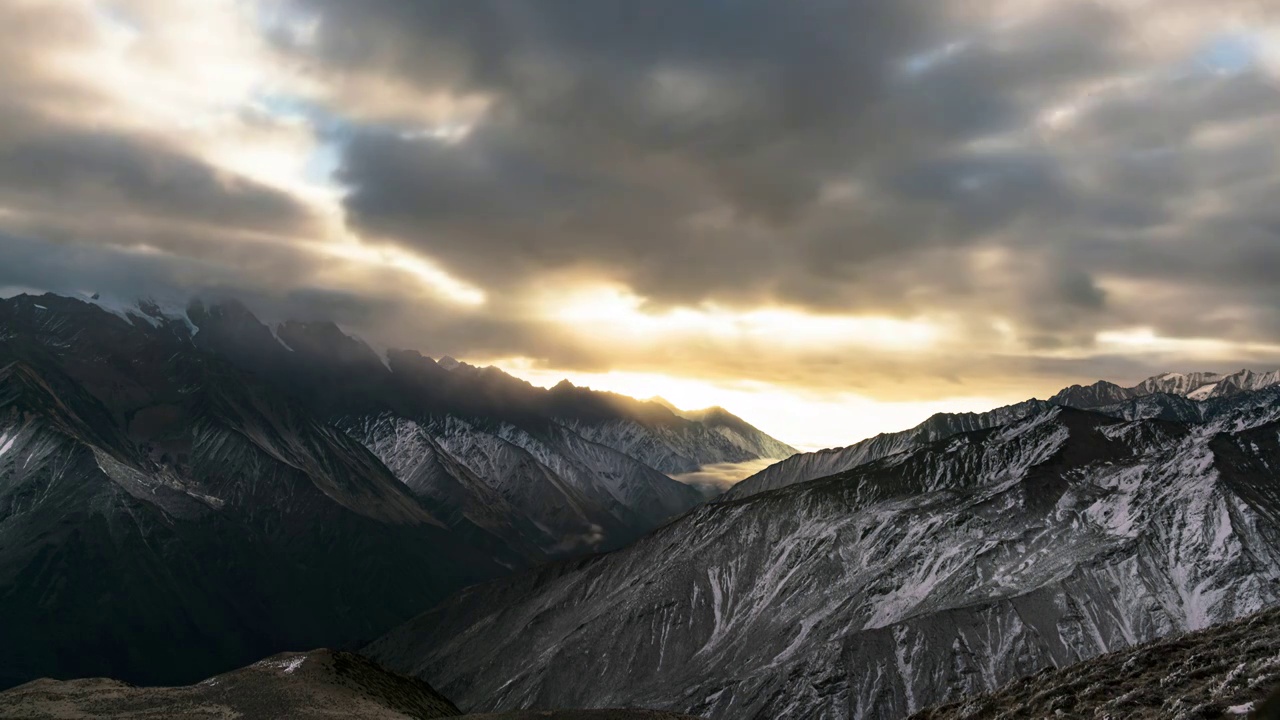
[[[842, 473], [864, 462], [956, 433], [996, 427], [1023, 418], [1028, 413], [1043, 410], [1047, 405], [1065, 405], [1120, 415], [1128, 413], [1130, 419], [1133, 415], [1140, 415], [1190, 421], [1199, 419], [1197, 401], [1235, 397], [1276, 384], [1280, 384], [1280, 370], [1271, 373], [1240, 370], [1229, 375], [1165, 373], [1147, 378], [1133, 387], [1120, 387], [1106, 380], [1098, 380], [1091, 386], [1071, 386], [1059, 391], [1047, 402], [1028, 400], [987, 413], [940, 413], [909, 430], [883, 433], [847, 447], [790, 456], [782, 462], [776, 462], [745, 478], [726, 492], [721, 500], [742, 498], [756, 492]], [[1142, 406], [1135, 407], [1130, 402], [1134, 400], [1142, 400]]]

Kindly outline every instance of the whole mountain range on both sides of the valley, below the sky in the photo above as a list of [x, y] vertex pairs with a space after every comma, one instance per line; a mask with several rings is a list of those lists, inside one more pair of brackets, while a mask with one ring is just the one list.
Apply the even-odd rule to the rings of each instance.
[[[673, 479], [764, 457], [709, 502]], [[234, 301], [18, 296], [0, 688], [172, 687], [38, 680], [0, 711], [275, 693], [380, 716], [431, 688], [454, 714], [1041, 707], [1091, 659], [1280, 605], [1276, 468], [1280, 373], [1073, 386], [797, 455], [722, 409], [538, 388]], [[307, 647], [342, 650], [250, 665]], [[1263, 660], [1248, 692], [1228, 671], [1188, 697], [1261, 697]], [[1044, 667], [1068, 679], [1009, 685]]]

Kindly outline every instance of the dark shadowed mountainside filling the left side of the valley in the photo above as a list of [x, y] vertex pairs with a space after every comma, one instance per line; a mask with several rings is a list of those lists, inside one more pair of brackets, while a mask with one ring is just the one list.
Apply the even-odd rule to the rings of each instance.
[[[460, 369], [234, 304], [0, 301], [0, 687], [351, 646], [699, 502], [557, 420], [556, 393]], [[717, 432], [573, 395], [584, 425]]]

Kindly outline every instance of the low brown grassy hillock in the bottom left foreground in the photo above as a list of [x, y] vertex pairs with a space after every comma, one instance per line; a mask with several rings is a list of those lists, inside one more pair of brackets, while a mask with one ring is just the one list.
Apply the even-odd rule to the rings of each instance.
[[[104, 678], [41, 679], [0, 693], [0, 717], [239, 717], [428, 720], [470, 717], [431, 685], [351, 652], [285, 652], [193, 685], [140, 688]], [[492, 720], [684, 720], [645, 711], [503, 714]]]

